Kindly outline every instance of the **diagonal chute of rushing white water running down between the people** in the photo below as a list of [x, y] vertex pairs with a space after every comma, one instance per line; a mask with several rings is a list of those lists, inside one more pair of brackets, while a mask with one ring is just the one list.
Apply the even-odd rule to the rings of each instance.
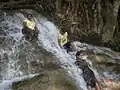
[[62, 50], [58, 45], [58, 30], [51, 22], [45, 22], [42, 25], [38, 24], [42, 34], [39, 35], [40, 44], [48, 51], [52, 52], [59, 60], [62, 67], [67, 70], [68, 74], [74, 78], [80, 90], [87, 90], [86, 84], [82, 78], [82, 72], [74, 64], [75, 56], [69, 55], [65, 50]]

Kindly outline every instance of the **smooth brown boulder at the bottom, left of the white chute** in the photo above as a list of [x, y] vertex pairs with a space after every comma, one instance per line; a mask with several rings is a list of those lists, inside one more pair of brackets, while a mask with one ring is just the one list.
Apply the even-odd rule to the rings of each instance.
[[41, 75], [13, 83], [13, 90], [78, 90], [60, 69], [45, 70]]

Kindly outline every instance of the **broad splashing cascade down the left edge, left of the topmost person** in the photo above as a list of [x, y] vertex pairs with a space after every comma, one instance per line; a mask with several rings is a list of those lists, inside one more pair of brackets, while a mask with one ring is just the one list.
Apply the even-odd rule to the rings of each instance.
[[[22, 27], [19, 21], [16, 15], [5, 16], [4, 21], [0, 24], [1, 32], [4, 33], [1, 35], [3, 40], [1, 41], [0, 48], [0, 90], [9, 90], [9, 85], [13, 81], [26, 78], [25, 75], [29, 75], [28, 77], [34, 76], [29, 73], [28, 69], [24, 68], [25, 71], [20, 70], [21, 65], [19, 62], [22, 59], [19, 59], [18, 55], [20, 53], [20, 45], [23, 42], [20, 41], [22, 38], [22, 34], [20, 33]], [[26, 73], [27, 71], [28, 73]]]

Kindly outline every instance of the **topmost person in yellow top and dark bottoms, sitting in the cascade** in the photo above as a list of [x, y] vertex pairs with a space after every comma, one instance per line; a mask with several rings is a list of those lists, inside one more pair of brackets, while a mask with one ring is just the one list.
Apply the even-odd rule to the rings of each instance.
[[26, 39], [29, 40], [33, 40], [34, 38], [38, 37], [39, 31], [31, 14], [28, 14], [27, 19], [23, 21], [22, 33], [24, 34]]

